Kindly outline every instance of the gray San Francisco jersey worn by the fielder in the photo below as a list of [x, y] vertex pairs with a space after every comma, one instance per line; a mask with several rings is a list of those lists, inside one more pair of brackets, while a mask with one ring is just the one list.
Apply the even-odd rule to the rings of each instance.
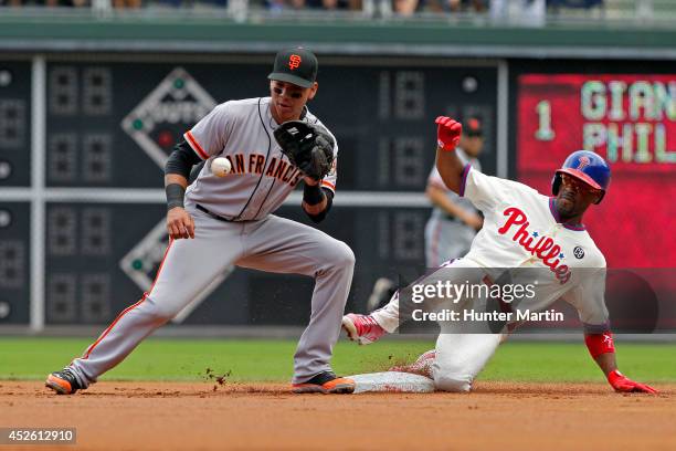
[[[270, 97], [225, 102], [183, 135], [200, 158], [225, 157], [232, 164], [231, 174], [221, 178], [211, 174], [207, 161], [188, 187], [187, 207], [200, 204], [236, 221], [257, 220], [275, 211], [303, 179], [275, 141], [273, 130], [278, 125], [270, 103]], [[321, 124], [309, 111], [303, 120]], [[338, 144], [334, 156], [334, 169], [321, 181], [331, 190], [336, 189]]]

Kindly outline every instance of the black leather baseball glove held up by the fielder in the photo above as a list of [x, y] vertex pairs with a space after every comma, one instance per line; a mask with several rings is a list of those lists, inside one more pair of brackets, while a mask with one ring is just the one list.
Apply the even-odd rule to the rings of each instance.
[[274, 134], [282, 153], [307, 177], [321, 180], [330, 172], [335, 143], [326, 128], [303, 120], [288, 120]]

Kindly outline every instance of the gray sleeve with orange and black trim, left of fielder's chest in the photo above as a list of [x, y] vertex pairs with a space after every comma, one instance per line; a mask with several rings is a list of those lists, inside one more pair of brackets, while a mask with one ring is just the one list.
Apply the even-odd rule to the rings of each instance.
[[228, 103], [224, 103], [202, 117], [183, 137], [201, 159], [207, 159], [223, 150], [231, 130], [232, 115]]

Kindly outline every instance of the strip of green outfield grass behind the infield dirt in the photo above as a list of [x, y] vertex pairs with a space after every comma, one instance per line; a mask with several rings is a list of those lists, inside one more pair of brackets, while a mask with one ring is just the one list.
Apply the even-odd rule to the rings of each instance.
[[[91, 343], [81, 338], [0, 338], [0, 379], [43, 379]], [[144, 342], [102, 380], [207, 380], [231, 371], [231, 380], [287, 381], [293, 340], [168, 339]], [[336, 373], [379, 371], [433, 347], [433, 342], [384, 340], [370, 346], [340, 342]], [[676, 344], [619, 344], [623, 373], [646, 381], [676, 381]], [[583, 344], [507, 343], [482, 373], [483, 380], [603, 381]]]

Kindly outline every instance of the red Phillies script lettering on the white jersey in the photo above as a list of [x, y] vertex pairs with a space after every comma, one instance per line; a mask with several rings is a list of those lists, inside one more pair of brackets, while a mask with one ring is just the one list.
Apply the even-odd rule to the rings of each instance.
[[528, 231], [528, 218], [520, 209], [516, 207], [509, 207], [503, 214], [507, 217], [505, 226], [498, 229], [500, 234], [510, 232], [514, 226], [516, 231], [511, 235], [511, 240], [517, 242], [531, 255], [536, 255], [542, 261], [549, 269], [556, 274], [557, 279], [564, 284], [570, 279], [570, 269], [566, 264], [559, 264], [559, 254], [561, 253], [561, 247], [554, 244], [554, 241], [549, 237], [539, 237], [536, 241], [536, 235]]

